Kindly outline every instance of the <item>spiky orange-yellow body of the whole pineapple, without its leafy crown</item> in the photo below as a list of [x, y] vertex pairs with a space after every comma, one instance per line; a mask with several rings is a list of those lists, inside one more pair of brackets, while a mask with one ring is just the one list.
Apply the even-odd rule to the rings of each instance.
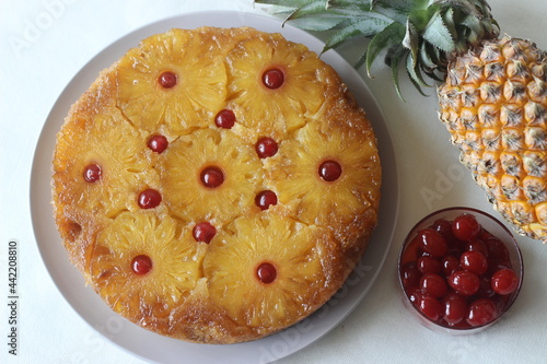
[[522, 235], [547, 242], [547, 55], [505, 36], [449, 64], [440, 119], [488, 200]]

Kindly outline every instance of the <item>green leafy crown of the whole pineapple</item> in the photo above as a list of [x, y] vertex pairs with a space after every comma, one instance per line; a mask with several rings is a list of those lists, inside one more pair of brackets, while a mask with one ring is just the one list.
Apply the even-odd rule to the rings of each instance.
[[356, 67], [372, 66], [382, 55], [392, 68], [399, 97], [398, 70], [405, 67], [412, 84], [441, 81], [454, 55], [499, 35], [485, 0], [255, 0], [267, 11], [306, 31], [329, 33], [323, 51], [353, 38], [368, 45]]

